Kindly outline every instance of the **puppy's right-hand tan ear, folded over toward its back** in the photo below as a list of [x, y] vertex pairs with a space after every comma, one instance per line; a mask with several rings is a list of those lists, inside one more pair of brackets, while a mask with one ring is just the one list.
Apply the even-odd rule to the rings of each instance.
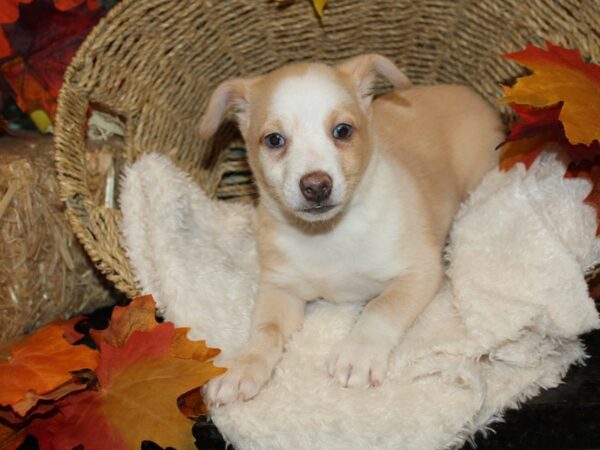
[[390, 59], [377, 53], [355, 56], [342, 62], [337, 69], [354, 84], [358, 97], [365, 106], [371, 102], [376, 75], [381, 75], [392, 83], [394, 89], [411, 85], [408, 77]]

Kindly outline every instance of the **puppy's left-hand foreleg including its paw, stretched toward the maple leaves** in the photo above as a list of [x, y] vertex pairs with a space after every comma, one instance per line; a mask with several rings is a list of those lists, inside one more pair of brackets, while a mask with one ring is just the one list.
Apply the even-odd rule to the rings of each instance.
[[303, 300], [272, 284], [261, 282], [254, 306], [248, 346], [242, 355], [222, 365], [227, 372], [206, 389], [209, 405], [249, 400], [271, 378], [283, 346], [304, 319]]

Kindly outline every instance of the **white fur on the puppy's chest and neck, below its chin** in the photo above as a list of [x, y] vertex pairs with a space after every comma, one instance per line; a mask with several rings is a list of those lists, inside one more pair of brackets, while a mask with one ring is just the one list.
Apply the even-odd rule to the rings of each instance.
[[[403, 258], [408, 212], [393, 167], [377, 164], [330, 231], [310, 235], [285, 227], [276, 246], [285, 264], [270, 274], [304, 300], [360, 302], [376, 297], [407, 267]], [[363, 183], [364, 184], [364, 183]]]

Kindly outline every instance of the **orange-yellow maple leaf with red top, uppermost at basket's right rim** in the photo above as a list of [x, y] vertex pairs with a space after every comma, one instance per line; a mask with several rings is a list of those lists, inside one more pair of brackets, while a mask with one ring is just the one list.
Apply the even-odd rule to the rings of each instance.
[[576, 49], [550, 42], [546, 46], [529, 45], [504, 55], [533, 74], [505, 88], [503, 100], [534, 107], [562, 103], [559, 119], [571, 144], [590, 145], [600, 140], [600, 66], [584, 62]]

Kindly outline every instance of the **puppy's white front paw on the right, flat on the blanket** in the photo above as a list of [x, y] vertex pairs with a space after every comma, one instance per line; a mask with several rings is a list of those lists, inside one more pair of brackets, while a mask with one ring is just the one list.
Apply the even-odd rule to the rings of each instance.
[[327, 369], [344, 387], [379, 386], [387, 373], [390, 353], [386, 345], [348, 337], [331, 352]]

